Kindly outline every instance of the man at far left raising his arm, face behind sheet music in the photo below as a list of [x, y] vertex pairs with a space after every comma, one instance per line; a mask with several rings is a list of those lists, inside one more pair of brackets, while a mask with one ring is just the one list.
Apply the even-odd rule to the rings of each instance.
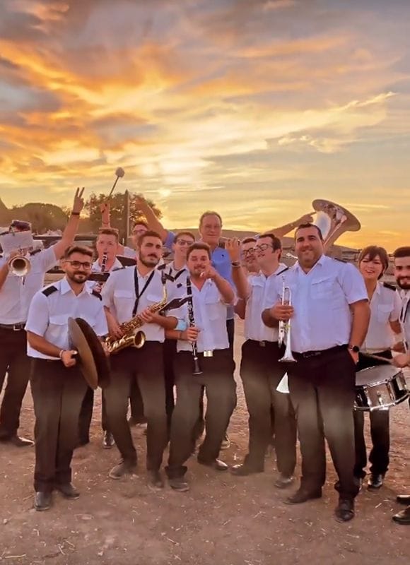
[[[29, 359], [26, 355], [24, 331], [28, 308], [35, 293], [44, 285], [45, 273], [52, 268], [74, 241], [83, 209], [83, 191], [77, 189], [69, 222], [59, 242], [30, 254], [28, 249], [13, 251], [0, 259], [0, 391], [7, 376], [0, 410], [0, 441], [17, 447], [31, 446], [33, 441], [18, 436], [21, 403], [28, 384]], [[28, 222], [13, 222], [11, 229], [31, 234]], [[11, 273], [8, 262], [23, 255], [30, 261], [30, 271], [24, 277]]]

